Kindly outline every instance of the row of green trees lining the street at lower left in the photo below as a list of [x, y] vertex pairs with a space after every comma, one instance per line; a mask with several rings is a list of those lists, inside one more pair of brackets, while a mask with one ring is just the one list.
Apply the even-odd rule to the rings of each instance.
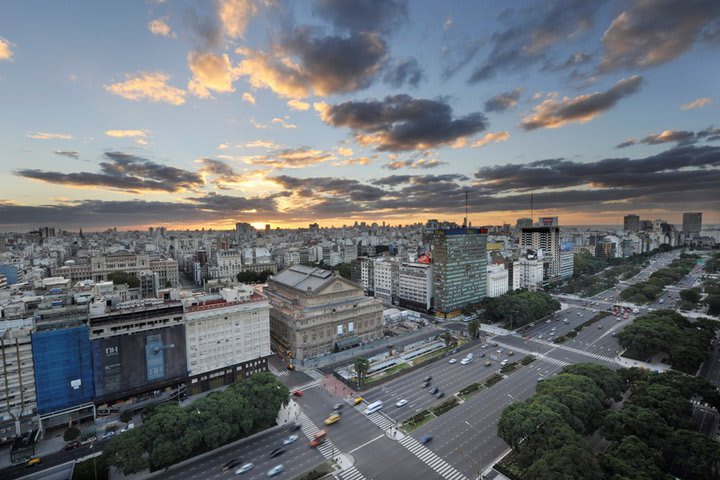
[[270, 427], [288, 396], [274, 375], [256, 373], [186, 407], [146, 409], [143, 425], [113, 437], [104, 455], [125, 475], [163, 468]]

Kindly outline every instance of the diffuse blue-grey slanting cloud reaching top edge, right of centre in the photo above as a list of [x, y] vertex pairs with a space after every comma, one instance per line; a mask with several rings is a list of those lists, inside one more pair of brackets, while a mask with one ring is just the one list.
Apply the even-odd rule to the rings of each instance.
[[518, 11], [505, 11], [500, 20], [510, 25], [491, 37], [491, 50], [470, 76], [469, 83], [515, 71], [545, 57], [556, 43], [592, 26], [603, 1], [555, 0]]

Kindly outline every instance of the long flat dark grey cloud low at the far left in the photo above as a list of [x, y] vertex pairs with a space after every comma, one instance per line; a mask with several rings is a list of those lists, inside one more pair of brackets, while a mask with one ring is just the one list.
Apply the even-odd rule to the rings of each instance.
[[204, 184], [195, 172], [155, 163], [123, 152], [106, 152], [100, 172], [62, 173], [37, 169], [18, 170], [16, 175], [34, 180], [76, 187], [108, 187], [111, 189], [178, 192]]

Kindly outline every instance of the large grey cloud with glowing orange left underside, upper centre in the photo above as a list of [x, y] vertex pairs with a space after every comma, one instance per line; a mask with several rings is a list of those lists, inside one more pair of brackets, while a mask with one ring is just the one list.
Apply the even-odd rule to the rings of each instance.
[[322, 36], [310, 27], [296, 29], [272, 53], [238, 49], [244, 55], [235, 72], [254, 88], [269, 88], [290, 98], [361, 90], [370, 85], [385, 58], [376, 33]]

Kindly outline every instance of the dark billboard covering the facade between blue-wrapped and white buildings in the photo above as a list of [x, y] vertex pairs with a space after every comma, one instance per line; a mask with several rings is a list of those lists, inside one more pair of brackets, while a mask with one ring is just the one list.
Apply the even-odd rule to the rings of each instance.
[[174, 325], [92, 340], [96, 403], [186, 378], [184, 328]]

